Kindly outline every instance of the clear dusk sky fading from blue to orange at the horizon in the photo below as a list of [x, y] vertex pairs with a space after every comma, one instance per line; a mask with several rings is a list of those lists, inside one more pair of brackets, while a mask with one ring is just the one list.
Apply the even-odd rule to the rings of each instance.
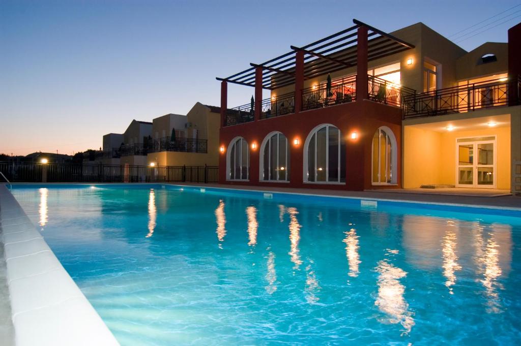
[[[0, 152], [72, 154], [99, 148], [132, 119], [186, 114], [197, 101], [219, 106], [216, 76], [348, 28], [353, 18], [386, 32], [421, 21], [470, 50], [506, 42], [521, 4], [0, 0]], [[230, 85], [228, 106], [252, 94]]]

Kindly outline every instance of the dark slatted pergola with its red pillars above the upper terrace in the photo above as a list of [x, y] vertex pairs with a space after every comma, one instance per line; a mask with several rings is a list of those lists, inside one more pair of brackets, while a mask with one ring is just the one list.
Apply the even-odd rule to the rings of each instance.
[[[290, 52], [276, 58], [250, 63], [247, 70], [217, 78], [221, 81], [221, 112], [227, 109], [228, 82], [255, 87], [255, 100], [262, 99], [263, 89], [274, 90], [295, 84], [295, 112], [298, 112], [304, 80], [354, 66], [358, 71], [364, 71], [357, 76], [357, 95], [366, 95], [368, 61], [403, 52], [414, 45], [359, 20], [353, 19], [353, 23], [352, 27], [313, 43], [290, 46]], [[255, 106], [255, 118], [258, 119], [260, 102], [256, 104], [259, 104]]]

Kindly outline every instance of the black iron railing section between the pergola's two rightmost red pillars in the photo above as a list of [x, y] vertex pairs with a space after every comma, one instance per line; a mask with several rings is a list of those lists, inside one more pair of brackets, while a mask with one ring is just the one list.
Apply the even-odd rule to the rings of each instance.
[[327, 83], [314, 85], [302, 91], [302, 110], [317, 109], [356, 100], [356, 75], [334, 80], [331, 88]]

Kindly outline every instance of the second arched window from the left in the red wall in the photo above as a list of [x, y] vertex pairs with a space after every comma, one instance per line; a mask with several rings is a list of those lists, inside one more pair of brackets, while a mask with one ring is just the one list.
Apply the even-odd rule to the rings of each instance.
[[280, 132], [271, 132], [261, 145], [260, 176], [263, 181], [290, 180], [290, 148]]

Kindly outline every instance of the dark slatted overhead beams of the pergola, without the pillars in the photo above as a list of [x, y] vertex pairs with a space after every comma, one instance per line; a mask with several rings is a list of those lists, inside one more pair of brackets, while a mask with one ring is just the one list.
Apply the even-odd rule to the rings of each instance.
[[263, 63], [250, 63], [251, 68], [235, 73], [227, 78], [217, 78], [235, 84], [255, 86], [255, 69], [263, 73], [263, 88], [276, 89], [295, 83], [296, 52], [304, 53], [304, 79], [332, 73], [357, 65], [357, 41], [359, 27], [367, 28], [367, 60], [375, 60], [414, 48], [414, 45], [388, 33], [353, 19], [353, 27], [339, 31], [304, 45], [290, 46], [291, 51]]

